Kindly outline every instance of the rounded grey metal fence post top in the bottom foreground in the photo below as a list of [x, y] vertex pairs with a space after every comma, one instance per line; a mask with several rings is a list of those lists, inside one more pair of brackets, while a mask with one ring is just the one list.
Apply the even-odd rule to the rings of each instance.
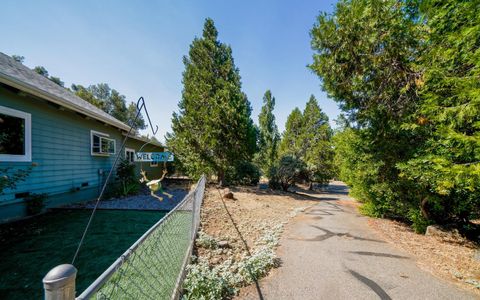
[[56, 266], [43, 277], [45, 300], [75, 300], [75, 277], [73, 265]]

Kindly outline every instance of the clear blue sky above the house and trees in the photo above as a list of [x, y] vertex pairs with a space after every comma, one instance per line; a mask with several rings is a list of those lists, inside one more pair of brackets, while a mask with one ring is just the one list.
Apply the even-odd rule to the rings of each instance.
[[312, 61], [309, 31], [334, 1], [23, 1], [3, 0], [0, 52], [25, 56], [66, 86], [105, 82], [134, 101], [143, 96], [158, 138], [170, 130], [181, 99], [182, 57], [206, 17], [231, 45], [243, 91], [257, 123], [265, 90], [276, 98], [281, 131], [295, 107], [314, 94], [331, 123], [337, 105], [306, 65]]

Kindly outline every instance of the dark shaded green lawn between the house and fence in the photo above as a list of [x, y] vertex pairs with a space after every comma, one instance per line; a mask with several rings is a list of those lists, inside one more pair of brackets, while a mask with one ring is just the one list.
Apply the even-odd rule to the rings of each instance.
[[[89, 214], [87, 210], [59, 210], [0, 225], [0, 299], [43, 298], [43, 276], [58, 264], [71, 263]], [[77, 295], [164, 215], [98, 210], [75, 263]], [[148, 259], [153, 263], [152, 257]]]

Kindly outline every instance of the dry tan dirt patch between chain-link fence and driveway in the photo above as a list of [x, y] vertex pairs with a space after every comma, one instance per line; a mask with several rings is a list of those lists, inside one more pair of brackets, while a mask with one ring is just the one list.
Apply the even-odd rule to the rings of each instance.
[[[238, 259], [256, 247], [255, 241], [278, 224], [285, 224], [297, 212], [315, 204], [315, 201], [292, 193], [259, 189], [258, 187], [231, 188], [235, 199], [224, 199], [226, 191], [214, 186], [207, 188], [201, 213], [201, 230], [219, 241], [228, 242], [220, 255], [198, 249], [199, 256], [215, 265], [227, 258]], [[225, 204], [225, 205], [224, 205]]]

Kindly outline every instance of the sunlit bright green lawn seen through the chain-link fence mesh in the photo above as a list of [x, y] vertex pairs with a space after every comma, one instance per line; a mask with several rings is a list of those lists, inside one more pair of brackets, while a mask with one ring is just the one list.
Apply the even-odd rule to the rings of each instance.
[[99, 299], [170, 299], [189, 246], [191, 211], [176, 211], [98, 291]]

